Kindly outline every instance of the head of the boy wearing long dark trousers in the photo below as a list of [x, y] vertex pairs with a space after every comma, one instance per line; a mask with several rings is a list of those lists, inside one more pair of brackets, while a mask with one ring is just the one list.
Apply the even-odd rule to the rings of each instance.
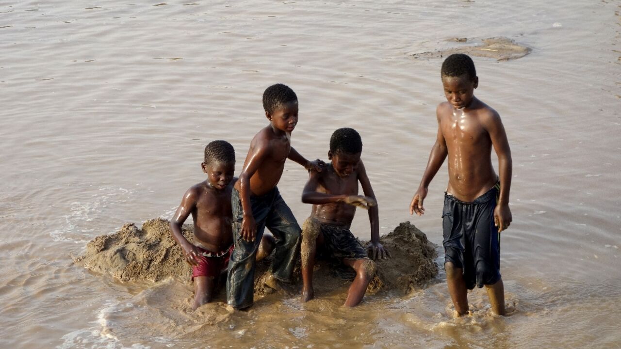
[[297, 124], [297, 96], [285, 84], [273, 84], [263, 92], [265, 116], [275, 129], [292, 132]]

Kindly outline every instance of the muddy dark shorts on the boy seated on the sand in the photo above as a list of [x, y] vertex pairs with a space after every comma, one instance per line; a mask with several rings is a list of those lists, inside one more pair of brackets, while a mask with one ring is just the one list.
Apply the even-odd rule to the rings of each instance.
[[[312, 219], [312, 218], [309, 218]], [[324, 236], [324, 243], [317, 247], [320, 258], [329, 261], [330, 270], [340, 279], [351, 280], [356, 277], [356, 271], [343, 264], [343, 259], [363, 260], [369, 258], [366, 248], [353, 236], [351, 230], [338, 225], [317, 222]]]

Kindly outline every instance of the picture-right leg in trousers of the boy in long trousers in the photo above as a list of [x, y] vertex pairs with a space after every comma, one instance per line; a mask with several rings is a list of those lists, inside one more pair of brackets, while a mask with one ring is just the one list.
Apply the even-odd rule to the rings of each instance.
[[270, 271], [274, 278], [285, 283], [291, 283], [293, 268], [296, 266], [299, 252], [302, 229], [297, 224], [296, 217], [278, 193], [274, 195], [274, 202], [270, 214], [265, 220], [265, 226], [274, 235], [274, 259]]

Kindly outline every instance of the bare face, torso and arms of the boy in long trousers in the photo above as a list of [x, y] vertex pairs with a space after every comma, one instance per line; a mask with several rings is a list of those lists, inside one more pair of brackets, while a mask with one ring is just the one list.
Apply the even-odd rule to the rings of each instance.
[[250, 207], [250, 195], [260, 196], [273, 189], [283, 175], [284, 162], [296, 161], [307, 170], [321, 171], [322, 161], [308, 161], [291, 147], [291, 132], [297, 124], [298, 104], [289, 102], [273, 113], [265, 112], [270, 125], [260, 130], [250, 142], [242, 174], [235, 183], [242, 202], [242, 238], [255, 240], [255, 219]]

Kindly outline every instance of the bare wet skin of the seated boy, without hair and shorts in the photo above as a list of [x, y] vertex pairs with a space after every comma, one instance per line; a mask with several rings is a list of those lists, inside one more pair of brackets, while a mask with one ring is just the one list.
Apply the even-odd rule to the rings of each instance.
[[[373, 259], [386, 258], [389, 252], [379, 243], [379, 211], [373, 188], [366, 174], [365, 165], [360, 160], [360, 153], [348, 154], [328, 152], [331, 163], [322, 172], [310, 171], [309, 181], [304, 186], [302, 202], [313, 204], [311, 216], [320, 222], [340, 225], [349, 229], [356, 207], [369, 211], [371, 224], [371, 242], [367, 246]], [[358, 183], [365, 196], [358, 195]], [[305, 240], [306, 239], [306, 240]], [[317, 245], [322, 245], [324, 237], [321, 233], [314, 242], [302, 232], [302, 248], [306, 249], [302, 258], [302, 302], [314, 297], [312, 272], [315, 265]], [[369, 261], [370, 262], [370, 261]], [[356, 271], [356, 278], [348, 291], [345, 306], [355, 306], [365, 295], [366, 287], [371, 281], [365, 260], [344, 259], [343, 263]], [[372, 262], [371, 262], [372, 263]]]

